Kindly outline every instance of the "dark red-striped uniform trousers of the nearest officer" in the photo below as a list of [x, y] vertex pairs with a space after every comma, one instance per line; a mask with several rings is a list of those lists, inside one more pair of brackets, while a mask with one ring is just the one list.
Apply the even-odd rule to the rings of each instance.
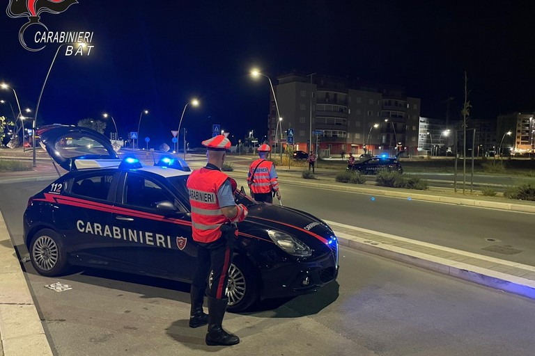
[[207, 292], [207, 296], [223, 299], [226, 298], [226, 284], [228, 283], [228, 267], [232, 263], [234, 233], [222, 232], [221, 237], [211, 243], [198, 243], [196, 272], [192, 285], [204, 290], [210, 275], [210, 270], [214, 271], [212, 286]]

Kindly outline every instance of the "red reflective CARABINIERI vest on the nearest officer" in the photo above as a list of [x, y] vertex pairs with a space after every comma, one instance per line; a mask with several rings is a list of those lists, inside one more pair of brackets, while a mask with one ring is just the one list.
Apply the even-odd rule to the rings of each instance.
[[217, 191], [228, 179], [219, 170], [201, 168], [194, 170], [187, 179], [189, 204], [192, 206], [192, 230], [194, 241], [209, 243], [221, 237], [222, 224], [228, 222], [217, 199]]

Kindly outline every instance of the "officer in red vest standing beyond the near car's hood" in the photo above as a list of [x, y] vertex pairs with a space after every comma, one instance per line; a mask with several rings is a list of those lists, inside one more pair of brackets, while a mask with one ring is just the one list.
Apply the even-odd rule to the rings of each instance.
[[277, 199], [281, 200], [279, 191], [279, 181], [277, 181], [277, 171], [273, 162], [266, 161], [267, 152], [271, 151], [270, 145], [260, 145], [258, 156], [260, 157], [249, 165], [247, 174], [247, 184], [251, 191], [251, 196], [257, 202], [273, 202], [271, 192], [277, 194]]

